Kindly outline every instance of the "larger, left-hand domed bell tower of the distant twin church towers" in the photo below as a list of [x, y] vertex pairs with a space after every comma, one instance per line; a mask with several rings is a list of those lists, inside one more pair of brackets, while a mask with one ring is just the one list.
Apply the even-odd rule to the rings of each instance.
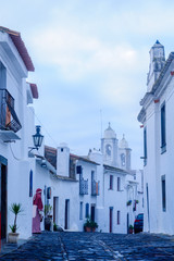
[[117, 166], [117, 139], [110, 123], [108, 128], [104, 130], [103, 138], [101, 139], [101, 152], [105, 164]]

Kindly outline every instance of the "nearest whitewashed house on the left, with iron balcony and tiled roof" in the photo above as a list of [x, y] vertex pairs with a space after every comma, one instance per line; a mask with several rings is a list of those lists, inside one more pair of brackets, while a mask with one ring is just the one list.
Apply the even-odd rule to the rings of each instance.
[[22, 203], [17, 217], [21, 237], [32, 235], [33, 160], [28, 147], [35, 134], [34, 111], [37, 86], [26, 83], [33, 62], [20, 33], [0, 27], [0, 238], [14, 223], [11, 203]]

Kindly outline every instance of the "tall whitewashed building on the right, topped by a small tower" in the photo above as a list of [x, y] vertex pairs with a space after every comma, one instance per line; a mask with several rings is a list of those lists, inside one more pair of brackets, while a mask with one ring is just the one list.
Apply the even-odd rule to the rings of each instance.
[[147, 92], [138, 121], [144, 127], [146, 232], [174, 234], [174, 53], [165, 61], [164, 47], [150, 49]]

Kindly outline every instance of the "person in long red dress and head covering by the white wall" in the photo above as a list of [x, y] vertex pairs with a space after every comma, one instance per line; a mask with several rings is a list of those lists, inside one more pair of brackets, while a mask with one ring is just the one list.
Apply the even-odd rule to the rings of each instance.
[[33, 233], [41, 233], [40, 222], [42, 221], [42, 200], [41, 200], [41, 189], [36, 189], [36, 194], [33, 198]]

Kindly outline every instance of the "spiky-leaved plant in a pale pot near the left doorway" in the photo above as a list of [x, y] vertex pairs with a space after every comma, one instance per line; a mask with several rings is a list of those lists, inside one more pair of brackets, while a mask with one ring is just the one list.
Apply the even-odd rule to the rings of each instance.
[[23, 211], [22, 204], [21, 203], [12, 203], [10, 207], [10, 211], [14, 214], [14, 224], [10, 225], [11, 233], [9, 233], [9, 235], [8, 235], [8, 241], [16, 244], [17, 238], [18, 238], [18, 233], [16, 233], [16, 231], [17, 231], [16, 222], [17, 222], [17, 214]]

